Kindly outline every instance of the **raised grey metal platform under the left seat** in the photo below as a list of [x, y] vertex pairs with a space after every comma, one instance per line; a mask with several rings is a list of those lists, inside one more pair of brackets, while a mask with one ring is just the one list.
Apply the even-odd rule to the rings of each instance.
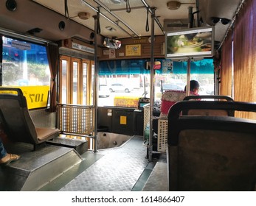
[[38, 191], [83, 160], [75, 149], [52, 145], [19, 154], [0, 168], [1, 191]]

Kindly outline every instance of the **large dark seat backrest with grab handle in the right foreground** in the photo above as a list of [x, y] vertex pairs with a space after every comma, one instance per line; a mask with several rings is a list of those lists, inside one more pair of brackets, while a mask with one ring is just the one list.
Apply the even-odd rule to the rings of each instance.
[[232, 116], [179, 116], [181, 110], [196, 107], [256, 111], [256, 104], [245, 102], [173, 105], [168, 114], [169, 190], [255, 190], [256, 121]]

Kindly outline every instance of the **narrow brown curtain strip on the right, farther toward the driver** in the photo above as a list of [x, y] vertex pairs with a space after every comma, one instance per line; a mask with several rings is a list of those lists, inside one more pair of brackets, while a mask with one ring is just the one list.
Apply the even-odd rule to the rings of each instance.
[[220, 94], [232, 96], [232, 30], [222, 46]]

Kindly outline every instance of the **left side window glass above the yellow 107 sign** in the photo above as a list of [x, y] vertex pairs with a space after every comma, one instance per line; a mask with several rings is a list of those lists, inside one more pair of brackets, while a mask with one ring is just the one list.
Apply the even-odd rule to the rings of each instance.
[[49, 85], [46, 48], [3, 37], [2, 85]]

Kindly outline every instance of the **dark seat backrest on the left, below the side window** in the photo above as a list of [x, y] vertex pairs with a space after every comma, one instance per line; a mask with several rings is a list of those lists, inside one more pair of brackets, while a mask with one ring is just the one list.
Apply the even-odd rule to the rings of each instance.
[[[0, 88], [0, 118], [4, 132], [11, 141], [35, 145], [44, 139], [38, 137], [37, 129], [27, 108], [26, 97], [19, 88]], [[47, 133], [49, 137], [49, 132]]]

